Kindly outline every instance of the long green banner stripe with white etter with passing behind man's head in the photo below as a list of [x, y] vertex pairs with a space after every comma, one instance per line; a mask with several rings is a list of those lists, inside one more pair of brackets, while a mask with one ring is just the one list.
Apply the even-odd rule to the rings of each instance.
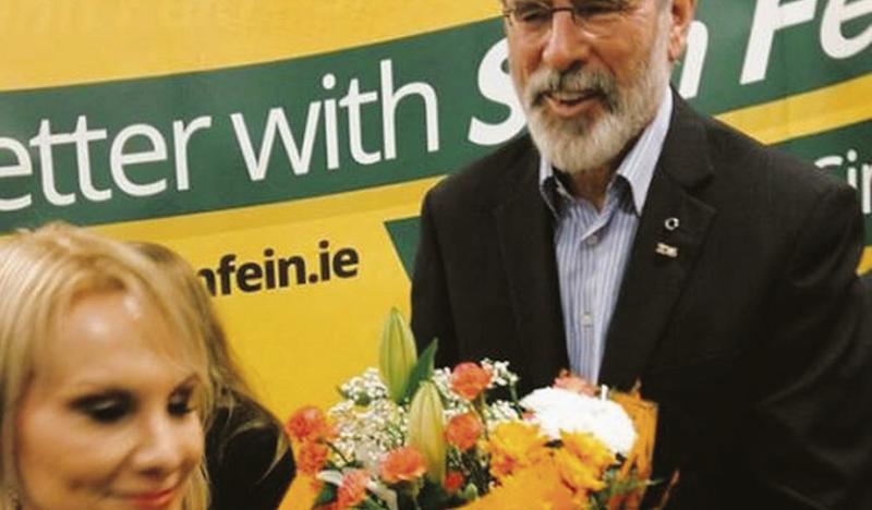
[[[705, 5], [676, 82], [711, 113], [872, 69], [869, 51], [833, 59], [819, 48], [810, 34], [823, 13], [774, 31], [732, 3], [718, 3], [718, 17], [741, 14], [735, 23], [706, 23]], [[765, 76], [740, 86], [762, 53], [746, 59], [748, 45], [734, 40], [760, 31], [774, 40]], [[501, 37], [500, 22], [487, 21], [270, 64], [0, 94], [0, 232], [59, 217], [92, 224], [270, 204], [456, 169], [522, 129]], [[790, 75], [779, 60], [788, 48]]]

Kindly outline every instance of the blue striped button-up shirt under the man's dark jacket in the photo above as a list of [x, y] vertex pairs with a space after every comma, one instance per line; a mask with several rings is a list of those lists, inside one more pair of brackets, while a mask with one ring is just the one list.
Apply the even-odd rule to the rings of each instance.
[[600, 211], [572, 196], [550, 162], [542, 158], [540, 163], [540, 190], [556, 219], [554, 247], [569, 365], [592, 382], [600, 377], [608, 325], [671, 111], [667, 87], [654, 120], [609, 182]]

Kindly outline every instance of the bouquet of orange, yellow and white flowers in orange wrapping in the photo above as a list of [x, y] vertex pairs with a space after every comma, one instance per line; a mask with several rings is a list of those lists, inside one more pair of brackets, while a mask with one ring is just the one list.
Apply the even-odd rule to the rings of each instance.
[[[518, 399], [505, 362], [435, 368], [391, 311], [379, 366], [326, 413], [287, 424], [313, 508], [637, 508], [649, 484], [656, 408], [561, 374]], [[495, 399], [499, 393], [502, 399]]]

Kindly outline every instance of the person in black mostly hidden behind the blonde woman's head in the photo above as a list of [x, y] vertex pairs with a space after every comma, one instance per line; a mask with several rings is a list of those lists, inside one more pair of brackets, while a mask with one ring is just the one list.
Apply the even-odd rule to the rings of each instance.
[[191, 266], [166, 246], [133, 245], [186, 290], [201, 317], [216, 396], [215, 420], [206, 433], [210, 509], [275, 510], [294, 476], [293, 454], [281, 423], [254, 398], [233, 359], [211, 296]]

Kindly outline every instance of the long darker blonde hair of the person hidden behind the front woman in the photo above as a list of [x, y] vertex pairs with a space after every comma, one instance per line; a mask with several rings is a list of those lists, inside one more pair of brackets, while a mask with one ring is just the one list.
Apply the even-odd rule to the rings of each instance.
[[249, 382], [237, 362], [235, 355], [227, 340], [225, 328], [218, 316], [211, 295], [207, 292], [203, 281], [197, 278], [191, 265], [178, 253], [157, 243], [135, 242], [131, 243], [136, 250], [157, 264], [164, 271], [175, 279], [175, 284], [183, 288], [192, 307], [199, 316], [199, 325], [203, 337], [206, 339], [206, 351], [209, 356], [209, 378], [215, 393], [216, 406], [226, 409], [229, 413], [240, 405], [247, 405], [257, 412], [243, 415], [245, 421], [240, 423], [229, 434], [222, 435], [222, 441], [218, 444], [219, 452], [233, 436], [253, 428], [274, 428], [277, 432], [276, 450], [269, 469], [263, 476], [281, 460], [290, 445], [282, 430], [282, 425], [278, 418], [264, 408], [255, 397]]

